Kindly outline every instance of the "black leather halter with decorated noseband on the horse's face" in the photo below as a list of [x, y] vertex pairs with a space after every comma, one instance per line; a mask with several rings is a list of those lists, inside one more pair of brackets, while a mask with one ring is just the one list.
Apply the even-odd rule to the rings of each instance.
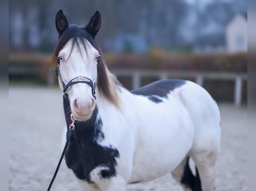
[[[57, 74], [57, 77], [60, 78], [60, 82], [63, 86], [63, 92], [64, 92], [64, 95], [63, 95], [63, 99], [65, 101], [65, 98], [64, 96], [68, 94], [66, 94], [66, 90], [73, 84], [76, 84], [76, 83], [86, 83], [86, 84], [89, 84], [91, 87], [92, 87], [92, 95], [93, 97], [96, 99], [96, 95], [95, 95], [95, 89], [96, 89], [96, 83], [93, 83], [93, 81], [89, 78], [86, 78], [84, 76], [78, 76], [76, 78], [73, 78], [71, 81], [69, 81], [69, 83], [67, 85], [65, 85], [65, 83], [63, 82], [62, 80], [62, 77], [61, 77], [61, 74], [60, 74], [60, 71], [59, 71], [59, 57], [57, 57], [57, 67], [56, 67], [56, 74]], [[66, 103], [66, 101], [65, 101]]]

